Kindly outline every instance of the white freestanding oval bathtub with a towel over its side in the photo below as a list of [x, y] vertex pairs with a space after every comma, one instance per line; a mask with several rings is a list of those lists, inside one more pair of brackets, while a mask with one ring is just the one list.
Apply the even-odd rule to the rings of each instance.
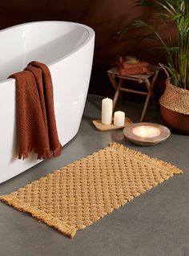
[[0, 183], [38, 164], [36, 155], [18, 160], [15, 80], [32, 60], [46, 63], [54, 84], [54, 110], [62, 145], [82, 119], [94, 51], [94, 30], [74, 22], [29, 22], [0, 31]]

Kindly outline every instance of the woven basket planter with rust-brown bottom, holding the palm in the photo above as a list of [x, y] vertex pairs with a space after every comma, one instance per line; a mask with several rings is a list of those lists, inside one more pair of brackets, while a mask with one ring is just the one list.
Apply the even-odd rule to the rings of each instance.
[[189, 134], [189, 91], [175, 87], [168, 77], [159, 104], [165, 123], [178, 132]]

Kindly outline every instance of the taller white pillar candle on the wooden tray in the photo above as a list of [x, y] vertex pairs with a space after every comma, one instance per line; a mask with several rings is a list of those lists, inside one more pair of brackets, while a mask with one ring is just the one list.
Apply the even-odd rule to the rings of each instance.
[[102, 100], [102, 124], [111, 124], [112, 120], [112, 111], [113, 111], [113, 100], [103, 99]]

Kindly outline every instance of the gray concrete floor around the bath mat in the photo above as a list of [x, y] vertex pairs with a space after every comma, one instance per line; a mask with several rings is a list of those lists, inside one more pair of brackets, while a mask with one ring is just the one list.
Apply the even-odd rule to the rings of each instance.
[[[184, 170], [123, 207], [77, 232], [74, 239], [38, 223], [29, 214], [0, 202], [0, 255], [2, 256], [188, 256], [189, 255], [189, 136], [171, 132], [161, 144], [140, 147], [123, 137], [122, 130], [97, 131], [92, 120], [101, 115], [102, 98], [88, 95], [77, 136], [62, 149], [62, 155], [43, 161], [0, 185], [0, 194], [14, 191], [54, 169], [104, 148], [111, 141], [124, 144]], [[141, 104], [116, 107], [137, 122]], [[163, 124], [159, 111], [147, 110], [145, 121]], [[3, 156], [1, 156], [3, 157]]]

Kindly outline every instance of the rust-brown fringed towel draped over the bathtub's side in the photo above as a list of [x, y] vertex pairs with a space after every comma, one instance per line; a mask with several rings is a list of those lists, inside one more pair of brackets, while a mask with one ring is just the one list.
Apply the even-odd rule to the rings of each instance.
[[54, 116], [53, 84], [48, 67], [33, 61], [16, 79], [18, 158], [34, 149], [38, 159], [59, 156], [61, 144]]

